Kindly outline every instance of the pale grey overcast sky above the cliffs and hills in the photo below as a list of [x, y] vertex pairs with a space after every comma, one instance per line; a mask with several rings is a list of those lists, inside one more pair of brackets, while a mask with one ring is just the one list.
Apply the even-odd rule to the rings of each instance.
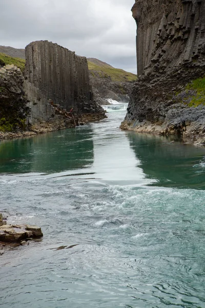
[[48, 40], [136, 72], [134, 0], [1, 0], [0, 45]]

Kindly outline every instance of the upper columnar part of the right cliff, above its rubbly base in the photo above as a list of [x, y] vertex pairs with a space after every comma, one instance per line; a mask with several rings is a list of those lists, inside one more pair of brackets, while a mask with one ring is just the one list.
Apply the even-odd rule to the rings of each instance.
[[138, 75], [204, 60], [204, 0], [136, 0]]

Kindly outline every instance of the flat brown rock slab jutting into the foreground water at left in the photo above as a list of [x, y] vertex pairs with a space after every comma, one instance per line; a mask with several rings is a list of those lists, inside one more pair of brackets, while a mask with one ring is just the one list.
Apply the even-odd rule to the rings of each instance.
[[0, 226], [0, 241], [20, 242], [27, 238], [42, 237], [42, 229], [29, 225], [3, 225]]

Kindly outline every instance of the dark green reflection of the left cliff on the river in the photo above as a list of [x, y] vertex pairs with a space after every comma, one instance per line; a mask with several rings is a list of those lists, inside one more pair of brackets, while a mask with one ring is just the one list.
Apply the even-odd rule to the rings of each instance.
[[61, 172], [93, 163], [92, 129], [69, 129], [0, 142], [0, 173]]

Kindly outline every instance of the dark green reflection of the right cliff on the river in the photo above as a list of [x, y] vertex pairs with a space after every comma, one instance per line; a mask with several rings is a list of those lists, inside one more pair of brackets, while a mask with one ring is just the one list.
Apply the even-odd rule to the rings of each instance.
[[204, 148], [151, 134], [127, 137], [147, 178], [157, 180], [153, 185], [205, 189]]

